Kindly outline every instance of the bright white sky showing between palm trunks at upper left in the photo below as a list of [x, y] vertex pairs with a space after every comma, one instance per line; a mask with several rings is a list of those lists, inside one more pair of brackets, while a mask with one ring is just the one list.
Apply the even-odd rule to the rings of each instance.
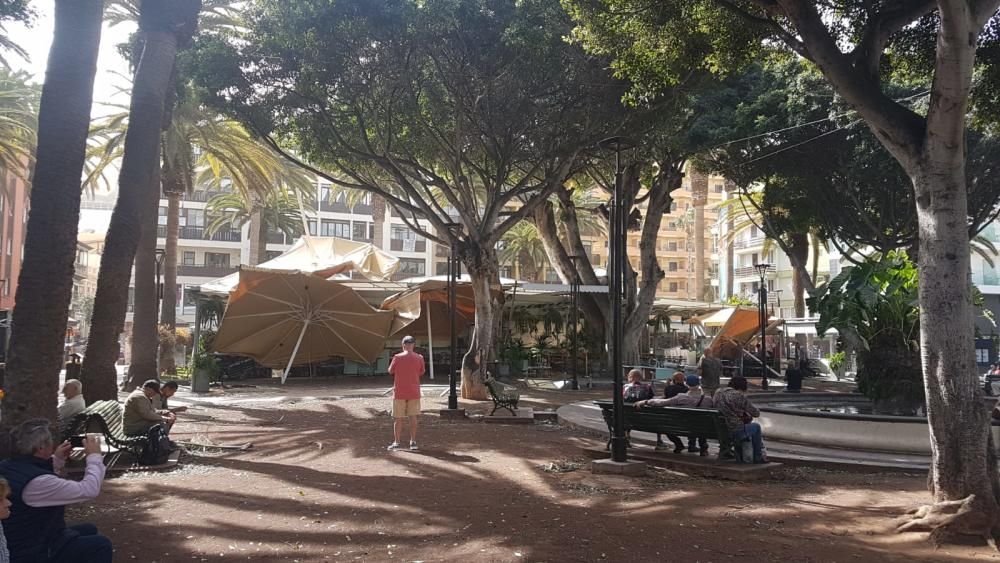
[[[54, 2], [36, 0], [31, 4], [37, 17], [30, 27], [18, 23], [9, 23], [5, 26], [10, 39], [28, 52], [30, 60], [24, 60], [14, 54], [7, 54], [6, 58], [15, 70], [28, 72], [34, 77], [35, 82], [41, 84], [45, 81], [45, 64], [52, 43]], [[118, 111], [106, 104], [128, 104], [128, 97], [118, 93], [119, 89], [128, 86], [128, 80], [125, 78], [128, 75], [128, 63], [118, 54], [116, 46], [126, 42], [135, 28], [134, 24], [120, 24], [114, 27], [104, 25], [101, 33], [101, 51], [97, 60], [97, 75], [94, 80], [94, 105], [91, 117]], [[84, 197], [87, 195], [84, 194]], [[106, 231], [109, 220], [110, 212], [82, 210], [80, 230]]]

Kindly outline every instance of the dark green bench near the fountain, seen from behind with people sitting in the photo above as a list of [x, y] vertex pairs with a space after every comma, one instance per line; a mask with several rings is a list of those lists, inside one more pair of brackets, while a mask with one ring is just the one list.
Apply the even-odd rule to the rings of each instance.
[[[594, 401], [601, 407], [610, 436], [615, 434], [614, 402]], [[732, 458], [733, 441], [726, 428], [726, 419], [716, 409], [685, 407], [650, 407], [637, 409], [631, 403], [624, 405], [625, 432], [639, 430], [674, 436], [698, 437], [719, 442], [719, 459]], [[611, 447], [611, 438], [608, 438]]]

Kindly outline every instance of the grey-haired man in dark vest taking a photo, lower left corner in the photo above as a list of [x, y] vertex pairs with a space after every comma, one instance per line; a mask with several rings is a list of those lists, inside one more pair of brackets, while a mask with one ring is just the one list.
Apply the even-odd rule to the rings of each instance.
[[67, 504], [100, 494], [105, 470], [101, 443], [92, 436], [84, 442], [83, 480], [63, 479], [56, 472], [62, 470], [70, 445], [56, 447], [49, 425], [35, 419], [11, 429], [12, 457], [0, 463], [0, 476], [10, 483], [10, 517], [3, 521], [10, 561], [110, 563], [111, 540], [92, 524], [67, 527], [63, 515]]

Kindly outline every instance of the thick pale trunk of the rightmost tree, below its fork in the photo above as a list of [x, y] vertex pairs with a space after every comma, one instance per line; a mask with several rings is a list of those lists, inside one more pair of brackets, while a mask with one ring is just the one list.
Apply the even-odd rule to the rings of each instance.
[[973, 510], [961, 522], [936, 531], [941, 539], [963, 531], [996, 534], [1000, 518], [990, 415], [982, 408], [972, 345], [964, 154], [955, 152], [950, 162], [929, 159], [913, 175], [920, 229], [920, 343], [934, 454], [929, 482], [935, 502], [975, 495]]

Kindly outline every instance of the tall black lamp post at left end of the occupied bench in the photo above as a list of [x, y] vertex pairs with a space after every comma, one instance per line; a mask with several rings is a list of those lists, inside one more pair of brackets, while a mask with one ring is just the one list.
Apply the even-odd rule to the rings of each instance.
[[610, 137], [597, 146], [615, 153], [615, 191], [611, 204], [611, 242], [608, 245], [609, 298], [611, 305], [611, 370], [613, 376], [612, 400], [614, 401], [614, 435], [611, 437], [611, 459], [625, 462], [628, 459], [625, 440], [625, 405], [622, 400], [622, 289], [625, 273], [625, 194], [622, 186], [622, 150], [635, 146], [626, 137]]

